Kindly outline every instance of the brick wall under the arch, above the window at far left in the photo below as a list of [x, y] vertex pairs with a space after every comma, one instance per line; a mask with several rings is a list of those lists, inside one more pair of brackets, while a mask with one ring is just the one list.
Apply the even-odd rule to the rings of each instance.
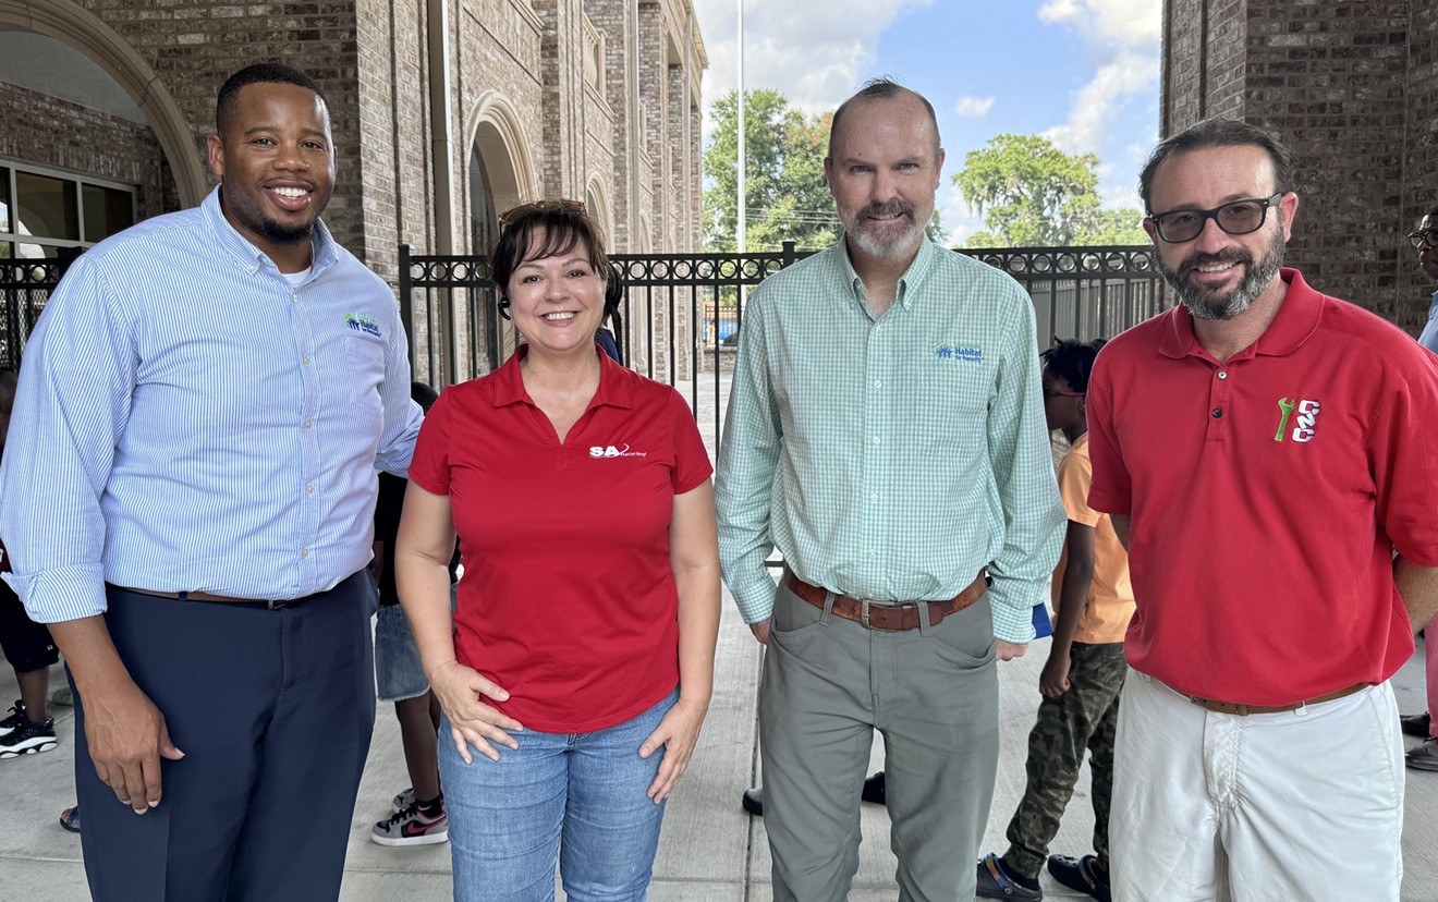
[[174, 178], [148, 125], [6, 82], [0, 122], [0, 157], [137, 186], [139, 219], [174, 209]]

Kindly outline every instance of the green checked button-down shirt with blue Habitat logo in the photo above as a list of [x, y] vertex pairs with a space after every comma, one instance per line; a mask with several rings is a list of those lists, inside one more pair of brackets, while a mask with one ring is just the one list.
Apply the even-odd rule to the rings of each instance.
[[1002, 272], [923, 242], [883, 316], [840, 242], [745, 309], [718, 475], [719, 558], [748, 623], [778, 547], [805, 583], [952, 598], [988, 567], [994, 634], [1034, 637], [1063, 542], [1034, 311]]

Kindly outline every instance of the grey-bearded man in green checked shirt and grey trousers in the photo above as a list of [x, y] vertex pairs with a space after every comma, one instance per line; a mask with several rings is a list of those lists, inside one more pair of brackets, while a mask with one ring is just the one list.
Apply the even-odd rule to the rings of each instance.
[[[725, 581], [768, 646], [764, 808], [779, 902], [844, 899], [884, 737], [899, 898], [974, 898], [998, 764], [995, 659], [1058, 560], [1034, 312], [925, 237], [933, 108], [876, 81], [834, 114], [834, 247], [745, 312], [719, 449]], [[777, 547], [787, 570], [764, 568]]]

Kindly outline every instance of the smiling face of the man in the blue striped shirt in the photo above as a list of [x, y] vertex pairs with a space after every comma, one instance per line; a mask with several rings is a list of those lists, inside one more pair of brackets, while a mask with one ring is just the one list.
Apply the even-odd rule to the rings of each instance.
[[325, 102], [299, 85], [246, 85], [221, 127], [206, 147], [224, 217], [282, 272], [303, 269], [335, 184]]

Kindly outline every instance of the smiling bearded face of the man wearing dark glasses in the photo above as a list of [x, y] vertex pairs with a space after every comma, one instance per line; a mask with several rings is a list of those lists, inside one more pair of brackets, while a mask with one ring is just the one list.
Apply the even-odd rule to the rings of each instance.
[[[1257, 145], [1205, 147], [1173, 154], [1153, 174], [1155, 214], [1211, 210], [1235, 200], [1274, 194], [1273, 161]], [[1248, 309], [1278, 276], [1291, 234], [1299, 196], [1283, 194], [1264, 224], [1248, 234], [1228, 234], [1212, 219], [1198, 237], [1169, 243], [1149, 220], [1143, 227], [1159, 252], [1159, 269], [1196, 319], [1232, 319]]]

